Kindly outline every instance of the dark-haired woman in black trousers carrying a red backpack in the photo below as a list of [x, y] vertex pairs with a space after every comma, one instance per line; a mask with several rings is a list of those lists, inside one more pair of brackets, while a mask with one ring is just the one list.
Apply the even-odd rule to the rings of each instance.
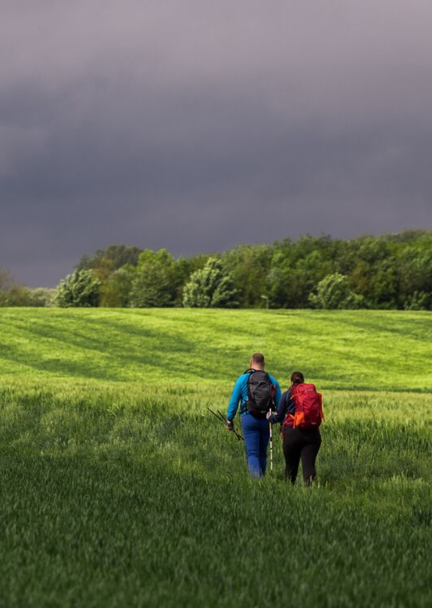
[[321, 395], [314, 384], [305, 384], [301, 371], [294, 371], [291, 385], [279, 400], [276, 413], [268, 414], [271, 424], [283, 423], [283, 451], [287, 481], [295, 483], [298, 465], [307, 486], [317, 478], [315, 460], [321, 446], [319, 426], [324, 420]]

